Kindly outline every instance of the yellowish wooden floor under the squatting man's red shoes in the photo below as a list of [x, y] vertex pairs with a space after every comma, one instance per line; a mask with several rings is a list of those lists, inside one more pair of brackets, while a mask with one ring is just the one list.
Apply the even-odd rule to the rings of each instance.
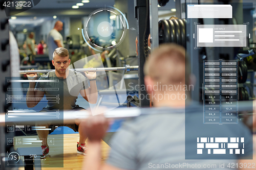
[[[33, 136], [36, 138], [37, 136]], [[17, 138], [17, 137], [15, 137]], [[31, 138], [31, 136], [19, 136], [18, 138]], [[81, 169], [82, 162], [86, 159], [86, 156], [76, 153], [76, 143], [79, 139], [79, 134], [64, 134], [64, 135], [49, 135], [48, 138], [54, 138], [54, 145], [49, 145], [50, 152], [45, 159], [41, 159], [41, 169]], [[62, 140], [63, 139], [63, 140]], [[15, 139], [14, 139], [15, 141]], [[63, 141], [63, 152], [62, 147], [58, 146], [58, 142]], [[14, 149], [26, 148], [26, 147], [40, 147], [38, 145], [18, 145], [14, 144]], [[90, 147], [90, 145], [88, 145]], [[106, 160], [109, 154], [110, 147], [102, 140], [102, 162]], [[62, 157], [63, 153], [63, 157]], [[20, 159], [23, 159], [21, 157]], [[63, 161], [62, 161], [63, 160]], [[53, 168], [54, 167], [54, 168]], [[24, 169], [24, 167], [19, 167], [19, 170]]]

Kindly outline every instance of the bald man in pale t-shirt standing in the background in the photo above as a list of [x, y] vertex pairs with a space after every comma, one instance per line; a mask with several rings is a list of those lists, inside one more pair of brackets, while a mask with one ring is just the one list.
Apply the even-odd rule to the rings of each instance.
[[63, 37], [59, 33], [61, 30], [63, 30], [63, 22], [60, 20], [56, 21], [54, 28], [49, 32], [47, 36], [47, 44], [48, 44], [48, 50], [49, 50], [49, 60], [52, 61], [52, 55], [56, 48], [58, 47], [64, 47], [63, 44]]

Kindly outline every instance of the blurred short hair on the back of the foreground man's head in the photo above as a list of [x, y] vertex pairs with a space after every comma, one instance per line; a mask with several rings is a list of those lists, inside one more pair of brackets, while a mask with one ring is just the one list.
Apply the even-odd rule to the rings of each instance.
[[[169, 43], [153, 51], [144, 65], [144, 74], [161, 84], [185, 83], [186, 54], [183, 46]], [[188, 69], [188, 70], [187, 70]]]

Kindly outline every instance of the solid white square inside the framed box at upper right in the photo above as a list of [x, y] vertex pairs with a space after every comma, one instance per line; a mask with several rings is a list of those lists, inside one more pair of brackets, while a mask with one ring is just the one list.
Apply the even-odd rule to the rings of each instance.
[[200, 28], [198, 30], [198, 42], [206, 43], [206, 42], [214, 42], [214, 29], [212, 28]]

